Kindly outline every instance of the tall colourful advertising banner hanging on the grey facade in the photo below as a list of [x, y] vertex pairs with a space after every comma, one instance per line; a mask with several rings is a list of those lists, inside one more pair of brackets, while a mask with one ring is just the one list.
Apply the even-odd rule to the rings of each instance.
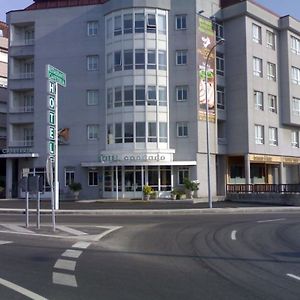
[[[208, 103], [209, 121], [215, 122], [215, 32], [212, 21], [203, 16], [198, 17], [197, 24], [197, 77], [198, 77], [198, 119], [206, 119], [206, 102]], [[211, 52], [212, 51], [212, 52]], [[211, 52], [211, 53], [210, 53]], [[209, 57], [208, 57], [209, 56]], [[207, 60], [208, 59], [208, 60]], [[205, 65], [207, 62], [207, 99], [205, 86]]]

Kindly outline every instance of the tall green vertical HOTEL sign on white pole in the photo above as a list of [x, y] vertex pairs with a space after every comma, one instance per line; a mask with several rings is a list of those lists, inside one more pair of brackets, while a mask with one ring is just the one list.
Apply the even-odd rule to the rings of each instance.
[[[66, 74], [59, 69], [46, 65], [47, 81], [47, 150], [48, 159], [54, 163], [54, 178], [49, 182], [51, 186], [51, 200], [54, 208], [59, 209], [59, 181], [58, 181], [58, 85], [66, 87]], [[48, 164], [48, 163], [47, 163]], [[51, 167], [51, 172], [52, 172]], [[50, 176], [51, 177], [51, 176]], [[53, 176], [52, 176], [53, 177]], [[51, 178], [50, 178], [51, 179]], [[54, 182], [53, 182], [54, 181]], [[53, 215], [55, 228], [55, 217]]]

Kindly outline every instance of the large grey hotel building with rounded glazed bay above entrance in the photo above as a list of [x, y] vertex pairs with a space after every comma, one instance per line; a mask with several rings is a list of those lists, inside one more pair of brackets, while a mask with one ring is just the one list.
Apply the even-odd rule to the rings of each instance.
[[47, 64], [67, 74], [62, 192], [79, 181], [84, 198], [134, 198], [149, 184], [167, 197], [189, 177], [206, 197], [206, 98], [213, 196], [227, 183], [299, 181], [293, 18], [253, 1], [36, 0], [8, 23], [10, 190], [22, 174], [45, 174]]

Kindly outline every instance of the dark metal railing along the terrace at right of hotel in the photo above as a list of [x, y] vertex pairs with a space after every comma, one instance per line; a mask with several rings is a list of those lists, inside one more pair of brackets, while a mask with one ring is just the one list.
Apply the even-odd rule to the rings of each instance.
[[227, 184], [227, 194], [300, 193], [300, 184]]

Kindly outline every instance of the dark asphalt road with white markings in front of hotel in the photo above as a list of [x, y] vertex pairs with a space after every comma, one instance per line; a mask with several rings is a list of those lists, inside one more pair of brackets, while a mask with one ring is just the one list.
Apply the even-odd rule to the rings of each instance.
[[298, 300], [299, 216], [0, 216], [0, 299]]

